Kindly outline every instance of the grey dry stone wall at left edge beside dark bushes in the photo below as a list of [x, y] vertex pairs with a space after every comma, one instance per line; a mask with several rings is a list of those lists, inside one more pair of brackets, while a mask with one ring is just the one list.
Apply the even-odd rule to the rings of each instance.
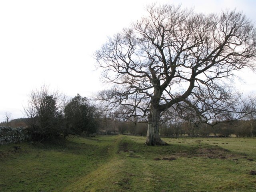
[[26, 128], [0, 126], [0, 145], [28, 141], [30, 138]]

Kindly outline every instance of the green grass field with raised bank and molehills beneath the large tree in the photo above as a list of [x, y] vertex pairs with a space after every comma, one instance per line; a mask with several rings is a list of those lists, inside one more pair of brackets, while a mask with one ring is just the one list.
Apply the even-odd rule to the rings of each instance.
[[[68, 138], [0, 146], [1, 192], [253, 192], [256, 138]], [[164, 159], [164, 160], [163, 160]]]

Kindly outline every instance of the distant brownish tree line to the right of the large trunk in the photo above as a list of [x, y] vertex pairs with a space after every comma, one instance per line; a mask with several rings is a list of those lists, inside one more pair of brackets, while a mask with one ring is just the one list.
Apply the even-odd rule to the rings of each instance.
[[243, 114], [231, 116], [229, 113], [222, 113], [215, 116], [215, 120], [205, 121], [198, 117], [189, 108], [171, 109], [163, 114], [160, 124], [162, 136], [222, 136], [228, 137], [254, 137], [256, 135], [256, 113], [255, 100], [250, 97]]

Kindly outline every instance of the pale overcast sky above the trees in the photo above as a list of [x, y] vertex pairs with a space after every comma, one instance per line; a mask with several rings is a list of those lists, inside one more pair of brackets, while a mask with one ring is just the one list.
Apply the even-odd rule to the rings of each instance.
[[[0, 122], [7, 111], [24, 117], [28, 94], [43, 84], [71, 98], [101, 90], [93, 53], [150, 2], [206, 13], [236, 8], [256, 23], [255, 0], [0, 0]], [[256, 90], [254, 74], [241, 76], [243, 92]]]

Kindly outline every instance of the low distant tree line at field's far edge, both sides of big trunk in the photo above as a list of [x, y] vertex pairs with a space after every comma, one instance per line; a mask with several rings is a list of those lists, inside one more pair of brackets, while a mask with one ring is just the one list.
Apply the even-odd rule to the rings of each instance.
[[[107, 119], [107, 126], [104, 120], [99, 125], [99, 134], [130, 134], [136, 136], [146, 136], [148, 125], [146, 122], [116, 121]], [[114, 125], [115, 124], [115, 125]], [[212, 125], [200, 123], [197, 126], [187, 120], [176, 120], [167, 123], [166, 120], [160, 125], [160, 135], [163, 137], [176, 136], [215, 136], [228, 137], [254, 137], [256, 136], [256, 119], [236, 120], [233, 122], [213, 122]]]

